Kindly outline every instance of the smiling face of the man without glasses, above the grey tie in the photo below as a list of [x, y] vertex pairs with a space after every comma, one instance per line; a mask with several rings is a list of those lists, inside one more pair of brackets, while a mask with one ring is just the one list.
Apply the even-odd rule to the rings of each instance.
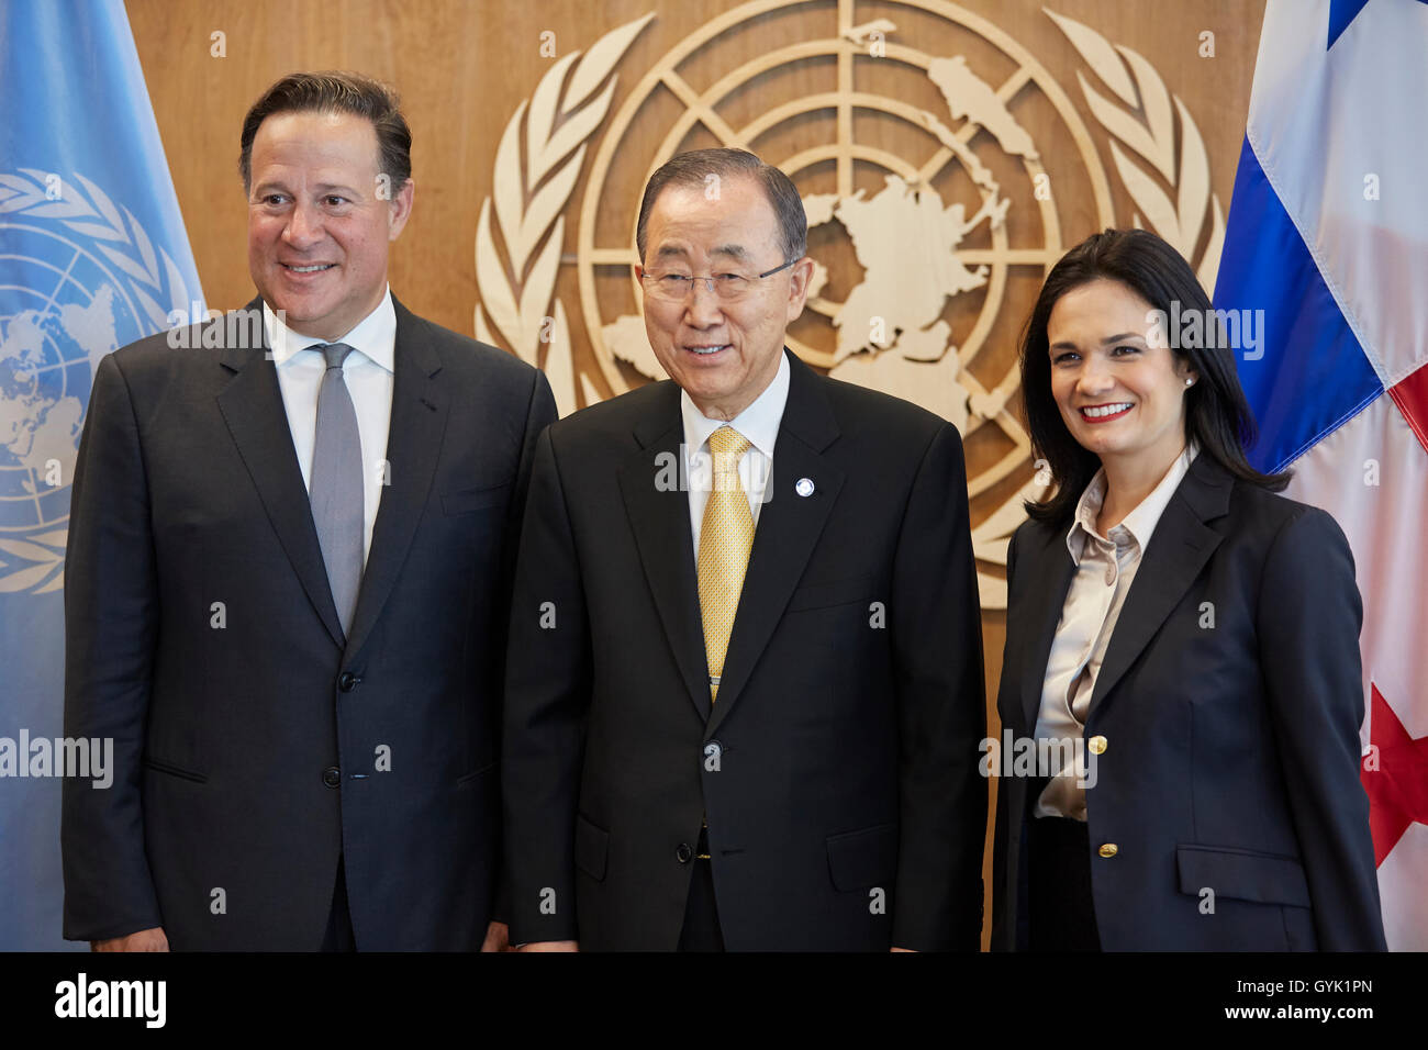
[[278, 113], [253, 139], [248, 271], [294, 331], [333, 340], [381, 301], [413, 183], [378, 196], [377, 131], [350, 113]]

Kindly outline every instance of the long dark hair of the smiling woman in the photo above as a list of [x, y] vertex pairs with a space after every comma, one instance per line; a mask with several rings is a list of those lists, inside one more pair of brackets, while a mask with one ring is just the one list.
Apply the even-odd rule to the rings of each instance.
[[[1051, 354], [1047, 321], [1051, 309], [1065, 293], [1108, 279], [1120, 281], [1160, 310], [1164, 316], [1198, 311], [1211, 346], [1180, 346], [1177, 333], [1167, 331], [1171, 350], [1200, 379], [1185, 391], [1185, 440], [1197, 441], [1201, 454], [1214, 457], [1242, 481], [1279, 491], [1289, 483], [1289, 473], [1261, 474], [1245, 457], [1255, 439], [1254, 414], [1240, 389], [1234, 350], [1228, 346], [1195, 271], [1175, 249], [1147, 230], [1105, 230], [1087, 237], [1065, 253], [1047, 274], [1031, 319], [1021, 339], [1021, 393], [1027, 409], [1027, 429], [1035, 454], [1047, 461], [1055, 493], [1042, 503], [1027, 503], [1027, 513], [1037, 521], [1070, 520], [1081, 493], [1101, 467], [1100, 457], [1081, 446], [1067, 430], [1055, 399], [1051, 396]], [[1178, 310], [1172, 304], [1178, 303]]]

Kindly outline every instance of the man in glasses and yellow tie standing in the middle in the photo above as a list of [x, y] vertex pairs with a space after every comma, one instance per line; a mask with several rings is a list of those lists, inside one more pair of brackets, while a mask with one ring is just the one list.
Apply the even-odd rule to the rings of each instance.
[[673, 381], [537, 446], [503, 753], [513, 943], [977, 949], [961, 440], [785, 350], [805, 230], [753, 154], [661, 167], [638, 276]]

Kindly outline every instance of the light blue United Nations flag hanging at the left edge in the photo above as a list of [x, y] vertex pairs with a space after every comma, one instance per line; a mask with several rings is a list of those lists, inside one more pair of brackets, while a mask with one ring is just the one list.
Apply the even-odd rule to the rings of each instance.
[[50, 746], [94, 366], [201, 300], [121, 0], [0, 0], [0, 950], [74, 947]]

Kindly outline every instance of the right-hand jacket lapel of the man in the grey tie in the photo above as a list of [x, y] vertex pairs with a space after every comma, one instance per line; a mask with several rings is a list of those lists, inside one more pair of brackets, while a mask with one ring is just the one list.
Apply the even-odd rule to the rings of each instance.
[[[437, 381], [441, 359], [423, 339], [424, 321], [401, 306], [396, 296], [391, 304], [397, 314], [391, 426], [387, 434], [391, 483], [381, 493], [373, 523], [371, 550], [347, 640], [348, 659], [361, 651], [407, 559], [417, 523], [426, 513], [447, 421], [448, 403]], [[367, 461], [370, 470], [370, 457]]]

